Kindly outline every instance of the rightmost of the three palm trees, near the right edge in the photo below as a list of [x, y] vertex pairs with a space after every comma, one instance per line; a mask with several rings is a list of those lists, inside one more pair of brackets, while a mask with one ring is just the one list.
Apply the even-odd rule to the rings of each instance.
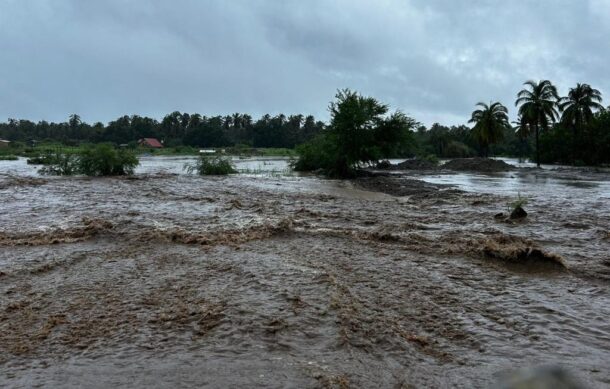
[[572, 139], [572, 163], [576, 161], [576, 147], [578, 133], [593, 119], [593, 110], [602, 110], [604, 106], [602, 94], [588, 84], [576, 84], [570, 89], [568, 96], [559, 99], [561, 123], [571, 127], [574, 137]]

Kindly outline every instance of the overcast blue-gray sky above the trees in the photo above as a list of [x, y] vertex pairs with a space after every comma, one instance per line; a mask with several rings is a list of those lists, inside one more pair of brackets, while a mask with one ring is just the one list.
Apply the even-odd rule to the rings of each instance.
[[0, 0], [0, 120], [326, 120], [349, 87], [462, 124], [542, 78], [610, 93], [610, 0]]

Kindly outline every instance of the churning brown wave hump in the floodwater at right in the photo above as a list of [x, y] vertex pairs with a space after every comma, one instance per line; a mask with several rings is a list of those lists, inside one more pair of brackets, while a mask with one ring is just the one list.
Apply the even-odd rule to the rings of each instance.
[[567, 268], [565, 261], [559, 255], [548, 253], [527, 239], [503, 234], [481, 242], [480, 253], [486, 258], [511, 263], [544, 263]]

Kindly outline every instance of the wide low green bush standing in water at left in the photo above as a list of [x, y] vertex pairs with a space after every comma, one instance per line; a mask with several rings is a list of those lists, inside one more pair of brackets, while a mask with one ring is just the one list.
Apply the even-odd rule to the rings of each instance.
[[131, 175], [139, 164], [138, 158], [133, 153], [116, 149], [107, 143], [86, 147], [80, 153], [46, 154], [41, 163], [45, 165], [40, 170], [41, 173], [61, 176]]

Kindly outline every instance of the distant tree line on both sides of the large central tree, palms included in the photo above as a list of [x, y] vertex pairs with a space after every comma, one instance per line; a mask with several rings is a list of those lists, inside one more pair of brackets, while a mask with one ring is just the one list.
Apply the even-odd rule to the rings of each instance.
[[[412, 124], [409, 142], [393, 148], [390, 156], [496, 155], [530, 158], [538, 163], [610, 163], [610, 109], [602, 106], [600, 91], [588, 84], [578, 84], [567, 96], [560, 97], [548, 80], [527, 81], [524, 85], [515, 101], [516, 122], [509, 122], [508, 108], [500, 102], [478, 103], [469, 121], [472, 127], [435, 123], [427, 128], [409, 118]], [[141, 138], [158, 138], [170, 147], [294, 148], [311, 141], [331, 125], [332, 119], [327, 124], [311, 115], [263, 115], [254, 120], [239, 113], [207, 117], [181, 112], [170, 113], [161, 121], [138, 115], [122, 116], [104, 125], [88, 124], [73, 114], [62, 123], [9, 119], [0, 123], [0, 138], [66, 145], [102, 142], [135, 145]]]

